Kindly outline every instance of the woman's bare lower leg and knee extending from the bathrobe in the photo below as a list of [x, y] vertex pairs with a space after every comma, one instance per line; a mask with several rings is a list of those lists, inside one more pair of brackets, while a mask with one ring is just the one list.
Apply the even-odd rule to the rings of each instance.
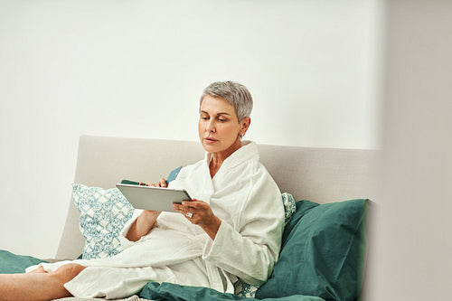
[[49, 301], [71, 294], [63, 287], [84, 269], [77, 264], [61, 266], [54, 272], [0, 275], [0, 301]]

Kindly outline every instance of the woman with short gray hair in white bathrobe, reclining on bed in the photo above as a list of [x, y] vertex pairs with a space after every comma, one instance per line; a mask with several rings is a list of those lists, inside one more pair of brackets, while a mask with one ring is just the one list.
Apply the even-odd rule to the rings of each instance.
[[[1, 275], [2, 300], [62, 296], [118, 298], [148, 281], [212, 287], [233, 293], [239, 278], [259, 285], [278, 259], [284, 209], [277, 184], [242, 142], [252, 99], [244, 86], [214, 82], [204, 89], [198, 124], [205, 158], [184, 167], [170, 188], [193, 202], [173, 212], [136, 211], [122, 231], [124, 250], [109, 259], [62, 261]], [[165, 179], [154, 185], [165, 186]], [[33, 287], [27, 295], [26, 287]]]

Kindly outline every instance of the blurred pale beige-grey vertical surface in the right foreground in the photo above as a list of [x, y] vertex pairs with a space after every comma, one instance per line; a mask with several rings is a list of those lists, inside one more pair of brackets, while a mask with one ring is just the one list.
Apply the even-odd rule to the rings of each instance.
[[365, 300], [451, 299], [452, 2], [391, 0]]

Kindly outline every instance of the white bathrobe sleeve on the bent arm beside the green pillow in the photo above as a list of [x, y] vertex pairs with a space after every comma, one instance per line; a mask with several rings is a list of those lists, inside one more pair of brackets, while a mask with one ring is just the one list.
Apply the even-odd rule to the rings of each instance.
[[202, 259], [241, 280], [260, 285], [278, 259], [284, 225], [284, 208], [278, 186], [267, 174], [253, 183], [238, 212], [238, 226], [221, 221], [215, 240], [208, 240]]

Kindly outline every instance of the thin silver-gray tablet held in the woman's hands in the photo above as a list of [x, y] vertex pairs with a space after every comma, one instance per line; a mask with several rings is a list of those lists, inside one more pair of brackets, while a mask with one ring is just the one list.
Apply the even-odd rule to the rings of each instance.
[[117, 183], [116, 186], [124, 194], [127, 201], [137, 209], [175, 212], [173, 210], [174, 202], [192, 201], [192, 198], [185, 190], [124, 183]]

